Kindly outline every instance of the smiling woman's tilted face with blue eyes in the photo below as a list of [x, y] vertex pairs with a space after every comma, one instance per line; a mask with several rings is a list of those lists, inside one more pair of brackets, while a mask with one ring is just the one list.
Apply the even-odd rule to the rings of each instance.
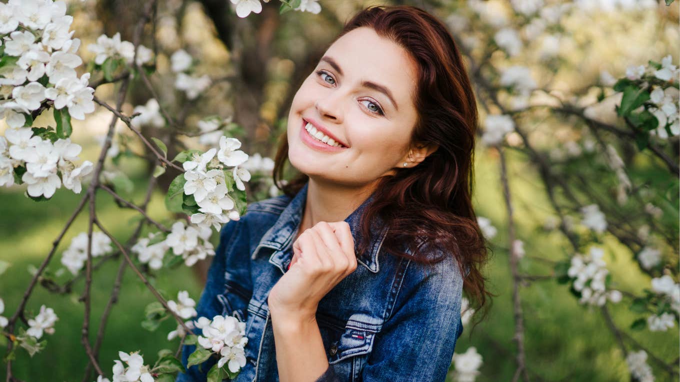
[[292, 101], [291, 164], [311, 179], [359, 187], [403, 167], [417, 117], [415, 73], [406, 50], [369, 27], [337, 39]]

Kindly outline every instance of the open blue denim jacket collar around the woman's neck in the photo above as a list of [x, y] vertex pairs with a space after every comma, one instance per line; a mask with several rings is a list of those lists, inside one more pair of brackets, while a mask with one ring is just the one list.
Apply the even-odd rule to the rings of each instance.
[[[292, 240], [300, 226], [303, 207], [307, 201], [307, 186], [309, 186], [309, 182], [307, 182], [294, 198], [292, 198], [286, 209], [279, 215], [278, 220], [271, 228], [269, 228], [269, 230], [267, 230], [265, 235], [262, 236], [260, 243], [252, 254], [253, 260], [258, 256], [261, 248], [274, 249], [273, 254], [271, 254], [271, 257], [269, 258], [269, 262], [277, 266], [282, 272], [286, 272], [284, 270], [288, 268], [288, 264], [290, 264], [290, 261], [292, 260], [292, 250], [289, 251], [288, 249], [292, 247]], [[361, 216], [364, 209], [372, 200], [373, 195], [369, 196], [366, 201], [345, 219], [345, 222], [350, 225], [352, 237], [354, 237], [355, 252], [358, 250], [358, 243], [361, 239]], [[378, 219], [378, 221], [371, 226], [368, 253], [358, 254], [357, 256], [357, 262], [373, 273], [377, 273], [380, 270], [378, 254], [387, 234], [387, 229], [380, 227], [381, 221]]]

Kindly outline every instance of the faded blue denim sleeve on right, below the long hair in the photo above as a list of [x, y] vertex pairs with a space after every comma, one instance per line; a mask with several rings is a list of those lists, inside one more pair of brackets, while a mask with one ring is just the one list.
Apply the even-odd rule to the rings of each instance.
[[375, 335], [361, 381], [445, 381], [460, 334], [463, 283], [452, 261], [443, 260], [431, 271], [409, 264], [392, 314]]

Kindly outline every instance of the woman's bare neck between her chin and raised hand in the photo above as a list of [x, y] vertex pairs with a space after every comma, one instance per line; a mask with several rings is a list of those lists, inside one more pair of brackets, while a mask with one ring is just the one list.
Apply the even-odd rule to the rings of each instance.
[[299, 232], [318, 222], [342, 222], [371, 196], [374, 189], [375, 182], [357, 187], [310, 178]]

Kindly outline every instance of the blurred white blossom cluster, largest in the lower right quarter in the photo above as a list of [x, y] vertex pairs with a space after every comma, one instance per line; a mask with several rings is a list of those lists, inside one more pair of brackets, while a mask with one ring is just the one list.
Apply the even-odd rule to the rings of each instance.
[[581, 292], [581, 304], [605, 305], [607, 298], [611, 302], [621, 301], [621, 292], [609, 290], [605, 286], [605, 279], [609, 274], [602, 256], [605, 251], [599, 247], [591, 247], [588, 256], [576, 254], [571, 258], [571, 266], [567, 274], [574, 278], [574, 289]]

